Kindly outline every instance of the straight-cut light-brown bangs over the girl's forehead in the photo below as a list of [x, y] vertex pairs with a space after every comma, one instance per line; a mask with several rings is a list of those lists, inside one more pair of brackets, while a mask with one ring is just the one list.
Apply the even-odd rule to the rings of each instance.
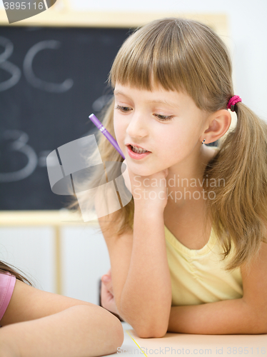
[[[153, 23], [152, 23], [153, 24]], [[152, 24], [149, 24], [150, 26]], [[173, 26], [173, 24], [164, 24]], [[137, 29], [124, 42], [114, 60], [109, 74], [109, 83], [133, 86], [152, 91], [163, 87], [167, 91], [181, 91], [183, 75], [173, 52], [172, 31], [154, 31], [151, 26]]]

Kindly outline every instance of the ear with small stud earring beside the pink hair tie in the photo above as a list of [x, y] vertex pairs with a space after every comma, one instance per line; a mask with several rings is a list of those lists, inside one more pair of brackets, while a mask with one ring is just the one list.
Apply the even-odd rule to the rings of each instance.
[[221, 109], [208, 116], [206, 119], [206, 129], [201, 135], [201, 141], [205, 140], [205, 144], [213, 143], [226, 134], [231, 126], [231, 114], [227, 109]]

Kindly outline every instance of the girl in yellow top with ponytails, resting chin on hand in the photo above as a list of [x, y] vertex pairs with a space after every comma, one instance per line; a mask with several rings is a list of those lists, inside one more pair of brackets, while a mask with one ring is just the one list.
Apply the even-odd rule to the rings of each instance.
[[[175, 18], [131, 34], [111, 68], [104, 126], [133, 198], [99, 218], [112, 273], [102, 304], [114, 295], [140, 337], [267, 333], [267, 124], [231, 71], [208, 26]], [[101, 135], [103, 161], [122, 161]]]

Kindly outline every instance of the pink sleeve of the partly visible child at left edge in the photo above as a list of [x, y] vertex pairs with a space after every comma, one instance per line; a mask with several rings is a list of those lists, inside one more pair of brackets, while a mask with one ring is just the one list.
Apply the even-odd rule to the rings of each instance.
[[16, 277], [10, 273], [0, 273], [0, 322], [6, 312], [16, 283]]

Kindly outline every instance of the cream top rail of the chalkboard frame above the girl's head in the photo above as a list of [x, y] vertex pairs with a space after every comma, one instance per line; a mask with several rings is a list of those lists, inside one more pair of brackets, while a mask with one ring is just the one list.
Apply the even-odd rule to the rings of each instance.
[[[56, 3], [57, 4], [57, 3]], [[0, 10], [0, 26], [80, 26], [80, 27], [137, 27], [154, 19], [163, 17], [184, 17], [201, 21], [211, 26], [220, 36], [228, 36], [227, 15], [221, 13], [181, 13], [175, 11], [75, 11], [66, 6], [56, 8], [56, 4], [48, 10], [29, 19], [9, 24], [4, 9]]]

